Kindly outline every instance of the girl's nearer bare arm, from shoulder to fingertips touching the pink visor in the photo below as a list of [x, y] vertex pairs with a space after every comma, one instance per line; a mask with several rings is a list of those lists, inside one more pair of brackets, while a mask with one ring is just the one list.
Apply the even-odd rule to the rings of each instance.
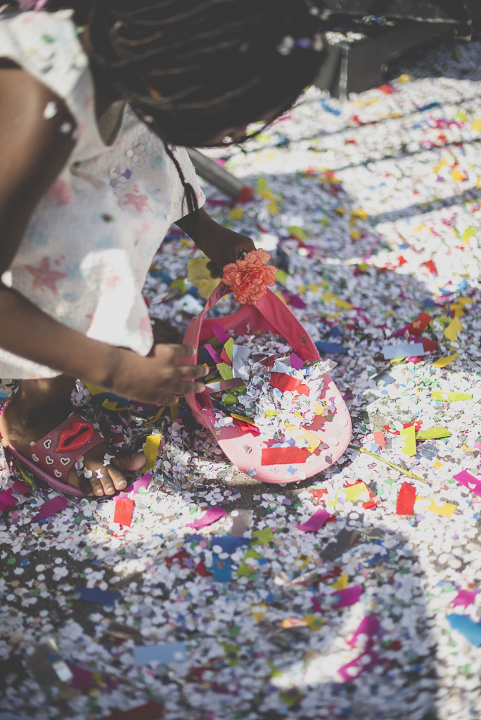
[[[52, 91], [21, 68], [0, 66], [0, 274], [12, 263], [37, 202], [68, 161], [74, 130]], [[2, 348], [123, 397], [163, 405], [204, 389], [192, 382], [203, 377], [203, 366], [177, 364], [192, 348], [156, 346], [144, 358], [86, 338], [3, 284], [0, 315]]]

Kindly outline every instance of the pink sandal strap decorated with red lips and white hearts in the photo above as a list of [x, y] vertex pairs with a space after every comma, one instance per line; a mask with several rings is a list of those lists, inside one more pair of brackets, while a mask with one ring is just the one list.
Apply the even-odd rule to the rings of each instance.
[[72, 413], [32, 445], [25, 455], [55, 480], [67, 482], [68, 473], [78, 458], [103, 442], [105, 438], [91, 423], [87, 423], [78, 413]]

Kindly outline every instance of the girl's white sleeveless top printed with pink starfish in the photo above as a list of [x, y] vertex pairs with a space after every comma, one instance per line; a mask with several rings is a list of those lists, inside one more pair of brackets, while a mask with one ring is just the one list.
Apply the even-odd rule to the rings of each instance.
[[[145, 276], [169, 225], [186, 213], [174, 163], [162, 141], [129, 110], [114, 144], [104, 145], [88, 58], [70, 11], [0, 19], [0, 56], [63, 99], [78, 138], [2, 279], [60, 323], [146, 355], [153, 336], [142, 297]], [[45, 109], [51, 112], [55, 107]], [[186, 150], [174, 153], [202, 206]], [[0, 349], [2, 378], [57, 374]]]

